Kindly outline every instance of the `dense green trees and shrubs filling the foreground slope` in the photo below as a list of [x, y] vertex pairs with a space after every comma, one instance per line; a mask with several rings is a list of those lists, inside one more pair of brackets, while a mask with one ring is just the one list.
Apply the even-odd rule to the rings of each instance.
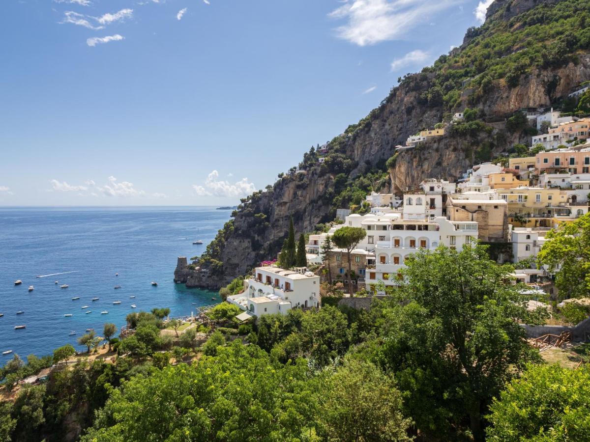
[[[62, 440], [87, 427], [89, 441], [480, 440], [486, 431], [505, 440], [519, 430], [506, 428], [517, 424], [502, 407], [537, 401], [539, 353], [518, 322], [545, 316], [527, 311], [511, 271], [483, 246], [441, 247], [408, 259], [405, 282], [370, 311], [326, 299], [318, 311], [244, 325], [221, 304], [211, 316], [226, 326], [190, 364], [189, 348], [167, 351], [152, 333], [162, 312], [142, 312], [129, 318], [136, 334], [113, 345], [113, 363], [57, 368], [2, 404], [0, 440]], [[586, 368], [559, 376], [569, 396], [588, 378]], [[565, 391], [561, 400], [539, 413], [574, 431], [564, 413], [587, 404]]]

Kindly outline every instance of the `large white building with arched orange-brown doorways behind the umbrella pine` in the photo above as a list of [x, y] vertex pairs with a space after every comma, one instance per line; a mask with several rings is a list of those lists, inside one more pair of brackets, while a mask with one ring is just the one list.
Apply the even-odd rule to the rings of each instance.
[[445, 217], [435, 217], [433, 220], [392, 220], [387, 229], [389, 235], [375, 245], [374, 268], [368, 266], [366, 269], [367, 288], [380, 281], [385, 285], [396, 285], [405, 259], [419, 249], [434, 250], [441, 244], [462, 249], [471, 246], [478, 235], [476, 222], [451, 222]]

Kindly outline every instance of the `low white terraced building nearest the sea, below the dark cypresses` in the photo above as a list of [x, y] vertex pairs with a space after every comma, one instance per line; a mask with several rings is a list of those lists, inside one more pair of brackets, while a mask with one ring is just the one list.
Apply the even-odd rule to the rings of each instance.
[[286, 314], [292, 308], [320, 305], [320, 277], [305, 269], [257, 267], [244, 281], [244, 292], [227, 297], [230, 304], [253, 315]]

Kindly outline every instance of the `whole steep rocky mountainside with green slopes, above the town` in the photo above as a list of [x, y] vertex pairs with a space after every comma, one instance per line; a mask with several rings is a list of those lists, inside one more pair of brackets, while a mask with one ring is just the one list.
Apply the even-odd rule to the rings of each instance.
[[[343, 180], [388, 169], [392, 190], [399, 193], [427, 177], [455, 180], [474, 163], [529, 143], [532, 128], [510, 127], [507, 120], [524, 107], [562, 103], [572, 87], [590, 79], [590, 34], [585, 37], [585, 18], [579, 18], [590, 17], [589, 8], [582, 0], [496, 0], [486, 23], [468, 29], [460, 48], [401, 79], [378, 108], [336, 137], [325, 163], [306, 154], [300, 171], [242, 200], [204, 256], [191, 268], [177, 269], [175, 278], [217, 289], [274, 258], [291, 216], [297, 235], [333, 219]], [[549, 18], [566, 23], [564, 35], [572, 28], [580, 33], [548, 39], [551, 29], [559, 29]], [[535, 24], [539, 41], [525, 32]], [[396, 153], [408, 136], [466, 108], [477, 121], [447, 127], [444, 137]]]

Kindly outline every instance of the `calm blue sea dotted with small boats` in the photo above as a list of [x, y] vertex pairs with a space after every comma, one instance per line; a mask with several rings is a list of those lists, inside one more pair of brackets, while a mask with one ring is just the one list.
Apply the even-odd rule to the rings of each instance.
[[[175, 284], [173, 271], [178, 256], [204, 252], [230, 212], [194, 206], [0, 207], [0, 366], [14, 353], [50, 354], [67, 343], [83, 349], [76, 338], [87, 328], [101, 335], [105, 322], [120, 327], [133, 311], [169, 307], [171, 315], [183, 316], [219, 302], [211, 299], [219, 298], [217, 292]], [[195, 239], [204, 244], [193, 245]], [[22, 285], [14, 285], [17, 279]], [[14, 329], [21, 324], [27, 328]], [[6, 350], [13, 354], [2, 356]]]

